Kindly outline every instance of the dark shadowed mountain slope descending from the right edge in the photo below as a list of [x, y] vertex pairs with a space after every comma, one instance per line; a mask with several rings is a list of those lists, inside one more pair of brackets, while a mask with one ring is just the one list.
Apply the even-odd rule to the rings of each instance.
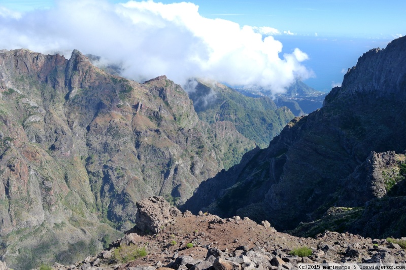
[[[384, 50], [365, 53], [344, 76], [343, 85], [326, 96], [320, 110], [294, 119], [268, 148], [201, 183], [184, 207], [208, 209], [221, 216], [261, 217], [277, 228], [289, 229], [301, 221], [320, 219], [332, 206], [364, 207], [371, 199], [387, 198], [387, 184], [394, 178], [382, 178], [382, 182], [363, 177], [357, 168], [368, 163], [373, 151], [401, 153], [406, 149], [405, 48], [403, 37]], [[399, 160], [398, 166], [403, 166]], [[349, 180], [351, 175], [356, 180]], [[370, 179], [378, 180], [367, 183]], [[356, 187], [348, 189], [349, 182]], [[396, 200], [395, 210], [401, 213], [404, 197]], [[380, 218], [388, 218], [387, 214], [380, 213]], [[404, 218], [393, 213], [391, 217], [388, 222], [392, 224]], [[400, 230], [404, 231], [404, 225]], [[367, 231], [364, 228], [363, 233]], [[387, 233], [381, 231], [381, 235]]]

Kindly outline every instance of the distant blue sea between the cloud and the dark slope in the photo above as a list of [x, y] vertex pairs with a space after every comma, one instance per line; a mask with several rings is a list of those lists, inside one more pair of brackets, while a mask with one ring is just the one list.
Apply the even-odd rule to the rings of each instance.
[[[348, 68], [357, 64], [363, 53], [374, 48], [385, 48], [392, 40], [380, 38], [318, 37], [318, 36], [275, 36], [282, 42], [284, 53], [291, 53], [295, 48], [309, 55], [309, 60], [302, 62], [312, 69], [315, 78], [303, 81], [305, 84], [322, 92], [330, 92], [335, 85], [341, 85]], [[393, 38], [394, 39], [394, 38]]]

